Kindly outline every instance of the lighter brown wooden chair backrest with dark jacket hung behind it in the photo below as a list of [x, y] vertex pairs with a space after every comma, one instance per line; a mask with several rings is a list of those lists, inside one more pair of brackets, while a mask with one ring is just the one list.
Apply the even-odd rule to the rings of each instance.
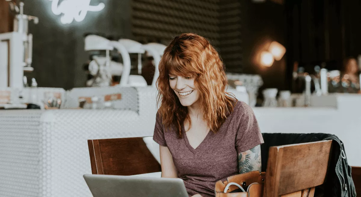
[[314, 187], [325, 181], [331, 144], [323, 140], [270, 147], [265, 197], [313, 196]]

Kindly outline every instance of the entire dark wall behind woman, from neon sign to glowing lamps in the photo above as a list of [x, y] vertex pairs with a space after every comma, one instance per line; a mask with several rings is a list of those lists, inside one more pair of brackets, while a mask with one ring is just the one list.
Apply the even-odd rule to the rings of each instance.
[[[196, 32], [216, 45], [224, 55], [229, 71], [257, 73], [264, 78], [265, 87], [283, 88], [283, 61], [270, 68], [259, 68], [250, 60], [255, 45], [260, 44], [262, 39], [284, 43], [284, 34], [280, 30], [283, 28], [283, 7], [275, 3], [183, 0], [181, 7], [176, 6], [179, 8], [175, 10], [177, 12], [168, 12], [174, 10], [172, 6], [178, 3], [92, 0], [92, 5], [104, 2], [105, 9], [88, 12], [82, 22], [61, 24], [60, 16], [51, 12], [51, 1], [24, 2], [25, 13], [39, 17], [39, 24], [30, 25], [30, 32], [34, 35], [32, 66], [35, 71], [28, 74], [37, 79], [39, 86], [65, 89], [84, 86], [86, 73], [83, 63], [88, 60], [88, 53], [84, 51], [84, 33], [166, 42], [177, 33]], [[148, 12], [152, 6], [159, 12]], [[135, 13], [132, 14], [132, 10]], [[152, 22], [151, 26], [149, 22]]]

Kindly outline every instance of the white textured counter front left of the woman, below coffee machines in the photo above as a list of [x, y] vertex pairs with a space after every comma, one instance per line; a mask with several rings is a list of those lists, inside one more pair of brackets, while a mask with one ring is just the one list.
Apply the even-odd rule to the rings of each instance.
[[1, 110], [0, 196], [91, 197], [87, 140], [153, 135], [156, 91], [119, 91], [123, 110]]

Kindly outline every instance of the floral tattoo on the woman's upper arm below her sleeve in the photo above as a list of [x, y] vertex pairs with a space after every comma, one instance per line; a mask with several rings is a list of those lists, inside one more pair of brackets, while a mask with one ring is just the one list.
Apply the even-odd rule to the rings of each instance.
[[261, 171], [261, 145], [238, 154], [238, 170], [239, 174]]

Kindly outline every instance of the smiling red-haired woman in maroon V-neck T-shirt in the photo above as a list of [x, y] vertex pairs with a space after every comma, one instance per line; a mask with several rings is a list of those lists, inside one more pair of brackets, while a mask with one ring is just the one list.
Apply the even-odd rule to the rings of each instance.
[[162, 177], [184, 180], [189, 196], [214, 196], [228, 176], [261, 170], [263, 143], [252, 109], [225, 92], [223, 63], [204, 37], [183, 33], [159, 63], [161, 106], [153, 139]]

